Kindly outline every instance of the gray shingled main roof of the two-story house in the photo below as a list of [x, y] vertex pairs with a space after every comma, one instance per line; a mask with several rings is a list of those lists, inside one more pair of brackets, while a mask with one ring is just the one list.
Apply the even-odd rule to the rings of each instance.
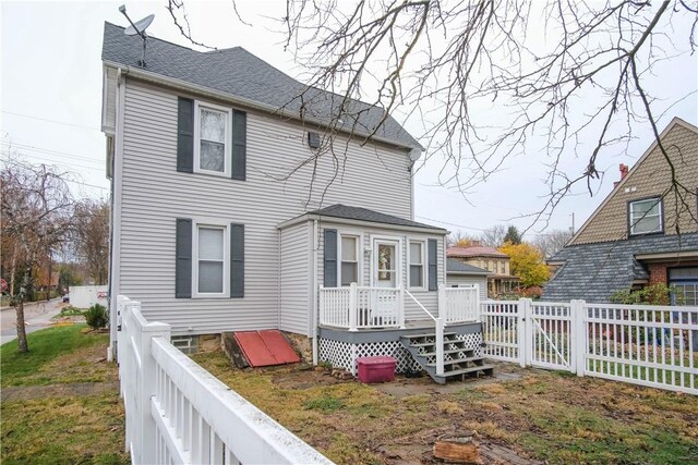
[[[105, 23], [101, 59], [130, 68], [140, 68], [143, 41], [139, 36], [127, 36], [123, 27]], [[327, 121], [338, 111], [341, 96], [306, 85], [284, 74], [245, 49], [200, 52], [148, 36], [147, 68], [151, 73], [176, 78], [272, 107], [284, 108], [289, 114], [300, 115], [303, 95], [305, 117]], [[356, 132], [369, 134], [383, 118], [378, 107], [352, 100], [347, 114], [342, 114], [346, 130], [354, 121]], [[352, 115], [358, 115], [356, 119]], [[388, 115], [376, 136], [402, 147], [420, 147], [419, 143]]]

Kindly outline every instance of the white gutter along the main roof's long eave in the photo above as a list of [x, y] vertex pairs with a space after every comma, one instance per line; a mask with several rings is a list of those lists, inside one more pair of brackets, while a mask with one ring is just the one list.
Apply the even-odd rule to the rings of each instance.
[[[198, 84], [193, 84], [186, 81], [182, 81], [182, 79], [178, 79], [174, 77], [165, 77], [161, 74], [157, 74], [157, 73], [153, 73], [149, 71], [145, 71], [139, 68], [131, 68], [128, 65], [124, 65], [122, 63], [117, 63], [116, 61], [110, 61], [110, 60], [103, 60], [105, 65], [108, 66], [112, 66], [116, 69], [120, 69], [122, 70], [123, 74], [128, 74], [132, 77], [142, 79], [142, 81], [146, 81], [146, 82], [151, 82], [151, 83], [155, 83], [155, 84], [160, 84], [160, 85], [165, 85], [165, 86], [170, 86], [170, 87], [174, 87], [178, 89], [182, 89], [182, 90], [188, 90], [191, 93], [195, 93], [195, 94], [201, 94], [201, 95], [205, 95], [208, 97], [213, 97], [219, 100], [226, 100], [226, 101], [230, 101], [232, 103], [237, 103], [243, 107], [248, 107], [251, 109], [255, 109], [255, 110], [261, 110], [264, 111], [265, 113], [272, 113], [272, 114], [278, 114], [281, 118], [286, 118], [287, 120], [292, 120], [292, 121], [299, 121], [303, 124], [306, 123], [311, 123], [311, 124], [315, 124], [318, 127], [326, 127], [326, 125], [324, 124], [324, 122], [322, 120], [315, 119], [315, 118], [304, 118], [304, 119], [300, 119], [296, 113], [291, 113], [288, 110], [285, 109], [279, 109], [276, 108], [272, 105], [266, 105], [266, 103], [261, 103], [258, 101], [255, 100], [251, 100], [244, 97], [239, 97], [239, 96], [234, 96], [228, 93], [224, 93], [220, 90], [215, 90], [212, 89], [210, 87], [206, 87], [206, 86], [202, 86]], [[369, 137], [369, 134], [362, 133], [362, 132], [349, 132], [346, 130], [340, 130], [342, 133], [345, 134], [350, 134], [350, 135], [358, 135], [358, 136], [363, 136], [363, 137]], [[406, 131], [407, 132], [407, 131]], [[405, 144], [399, 144], [393, 139], [387, 139], [385, 137], [381, 137], [377, 135], [373, 135], [371, 136], [372, 140], [377, 140], [381, 142], [383, 144], [393, 146], [393, 147], [397, 147], [397, 148], [405, 148], [405, 149], [413, 149], [413, 148], [419, 148], [422, 151], [424, 151], [424, 147], [420, 146], [419, 144], [417, 146], [412, 146], [412, 145], [405, 145]], [[409, 156], [409, 154], [406, 154]]]

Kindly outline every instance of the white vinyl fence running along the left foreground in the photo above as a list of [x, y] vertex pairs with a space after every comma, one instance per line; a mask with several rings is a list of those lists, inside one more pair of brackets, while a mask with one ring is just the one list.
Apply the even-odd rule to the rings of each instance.
[[170, 343], [118, 296], [118, 355], [133, 464], [330, 464]]

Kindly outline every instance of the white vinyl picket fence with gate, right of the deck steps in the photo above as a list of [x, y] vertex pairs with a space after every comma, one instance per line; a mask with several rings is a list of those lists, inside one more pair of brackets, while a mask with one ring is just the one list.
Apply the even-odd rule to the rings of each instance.
[[698, 307], [484, 301], [485, 356], [698, 394]]

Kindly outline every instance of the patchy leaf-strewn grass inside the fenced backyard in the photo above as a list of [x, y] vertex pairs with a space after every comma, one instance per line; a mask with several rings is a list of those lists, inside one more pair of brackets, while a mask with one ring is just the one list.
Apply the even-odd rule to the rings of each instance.
[[[298, 366], [239, 370], [220, 352], [193, 358], [337, 463], [436, 463], [437, 438], [470, 431], [485, 463], [698, 463], [694, 395], [504, 364], [506, 381], [442, 388], [429, 378], [366, 386]], [[496, 462], [488, 450], [512, 455]]]

